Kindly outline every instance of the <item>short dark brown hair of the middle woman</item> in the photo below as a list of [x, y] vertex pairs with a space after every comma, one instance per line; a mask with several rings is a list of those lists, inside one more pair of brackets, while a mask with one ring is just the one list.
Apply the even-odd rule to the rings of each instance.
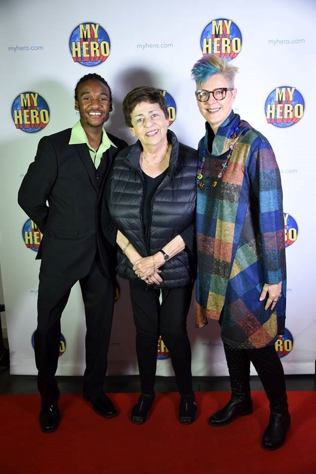
[[125, 123], [128, 127], [132, 127], [131, 117], [135, 107], [141, 102], [148, 102], [149, 104], [158, 104], [165, 118], [169, 118], [166, 101], [159, 89], [143, 85], [142, 87], [135, 87], [135, 89], [128, 92], [123, 100], [123, 114]]

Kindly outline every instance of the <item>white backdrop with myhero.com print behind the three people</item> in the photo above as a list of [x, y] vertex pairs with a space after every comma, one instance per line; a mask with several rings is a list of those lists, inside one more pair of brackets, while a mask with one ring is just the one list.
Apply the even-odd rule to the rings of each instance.
[[[259, 5], [247, 0], [238, 4], [235, 0], [160, 0], [144, 4], [94, 0], [87, 9], [84, 0], [2, 0], [0, 13], [0, 265], [11, 373], [36, 373], [31, 339], [36, 328], [40, 262], [35, 261], [36, 252], [27, 248], [22, 238], [28, 217], [17, 204], [17, 192], [40, 138], [75, 124], [79, 117], [74, 110], [74, 87], [83, 75], [97, 73], [113, 91], [114, 112], [107, 130], [132, 143], [123, 122], [122, 99], [133, 87], [153, 85], [166, 90], [175, 102], [171, 129], [180, 141], [196, 148], [204, 134], [204, 121], [197, 110], [190, 70], [202, 56], [204, 28], [216, 19], [232, 20], [240, 30], [241, 50], [232, 60], [240, 68], [234, 110], [271, 142], [281, 170], [284, 212], [298, 227], [296, 241], [295, 230], [289, 232], [293, 243], [286, 249], [286, 328], [292, 338], [287, 336], [283, 344], [287, 354], [281, 360], [287, 374], [313, 373], [316, 2], [266, 0]], [[85, 23], [99, 24], [109, 37], [108, 49], [106, 43], [103, 46], [110, 54], [94, 67], [74, 62], [69, 48], [72, 32]], [[265, 114], [269, 94], [282, 86], [294, 87], [305, 103], [303, 117], [287, 127], [268, 123]], [[25, 92], [38, 93], [49, 108], [49, 122], [38, 132], [17, 129], [12, 118], [14, 100]], [[16, 105], [13, 108], [17, 110]], [[127, 284], [119, 283], [121, 295], [115, 306], [108, 373], [134, 374], [135, 331]], [[227, 375], [218, 324], [210, 321], [206, 328], [196, 329], [192, 304], [188, 327], [193, 374]], [[84, 315], [79, 286], [73, 288], [64, 311], [62, 334], [66, 350], [61, 343], [64, 352], [57, 373], [80, 375], [84, 370]], [[157, 373], [173, 374], [170, 359], [158, 360]]]

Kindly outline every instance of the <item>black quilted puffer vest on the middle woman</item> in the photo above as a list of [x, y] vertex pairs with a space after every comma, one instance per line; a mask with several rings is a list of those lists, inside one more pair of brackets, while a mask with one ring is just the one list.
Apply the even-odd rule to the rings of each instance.
[[[197, 152], [178, 142], [168, 130], [172, 145], [169, 170], [152, 200], [149, 244], [146, 244], [141, 217], [143, 175], [139, 166], [139, 141], [118, 153], [110, 177], [108, 207], [111, 217], [142, 257], [153, 255], [185, 229], [194, 232], [196, 206]], [[160, 268], [159, 288], [175, 288], [194, 281], [195, 251], [185, 249]], [[136, 279], [127, 257], [118, 251], [118, 275]]]

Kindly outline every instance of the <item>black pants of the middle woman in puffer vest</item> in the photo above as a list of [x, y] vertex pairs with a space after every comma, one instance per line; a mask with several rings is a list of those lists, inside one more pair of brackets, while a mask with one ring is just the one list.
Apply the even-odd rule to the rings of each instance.
[[180, 394], [192, 392], [191, 346], [187, 315], [192, 286], [161, 289], [143, 281], [130, 281], [130, 297], [136, 326], [136, 352], [143, 394], [153, 394], [159, 335], [168, 348]]

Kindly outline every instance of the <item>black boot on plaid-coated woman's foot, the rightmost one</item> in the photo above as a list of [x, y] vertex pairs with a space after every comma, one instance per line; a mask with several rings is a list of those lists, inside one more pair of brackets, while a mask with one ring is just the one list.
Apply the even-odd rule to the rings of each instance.
[[262, 446], [271, 451], [280, 448], [284, 444], [286, 432], [290, 426], [291, 417], [288, 410], [284, 410], [283, 413], [272, 411], [269, 425], [262, 438]]

